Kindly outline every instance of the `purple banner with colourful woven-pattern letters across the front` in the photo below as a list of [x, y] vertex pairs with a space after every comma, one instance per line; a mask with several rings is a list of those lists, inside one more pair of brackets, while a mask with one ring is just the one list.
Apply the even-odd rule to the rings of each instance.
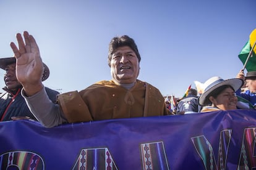
[[0, 123], [0, 169], [252, 169], [256, 111]]

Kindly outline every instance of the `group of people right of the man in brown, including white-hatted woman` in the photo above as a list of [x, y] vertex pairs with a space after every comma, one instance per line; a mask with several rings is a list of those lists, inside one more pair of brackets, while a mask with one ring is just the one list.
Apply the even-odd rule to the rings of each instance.
[[198, 94], [196, 89], [189, 89], [189, 95], [176, 99], [173, 108], [169, 108], [170, 102], [166, 100], [166, 107], [175, 115], [256, 107], [256, 71], [249, 71], [245, 76], [241, 70], [236, 78], [226, 80], [214, 76], [205, 81], [203, 86], [202, 94]]

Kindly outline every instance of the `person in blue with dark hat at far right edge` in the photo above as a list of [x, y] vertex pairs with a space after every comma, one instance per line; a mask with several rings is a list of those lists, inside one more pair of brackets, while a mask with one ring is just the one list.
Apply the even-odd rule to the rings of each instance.
[[238, 89], [236, 94], [240, 97], [248, 100], [253, 107], [256, 107], [256, 71], [247, 72], [246, 76], [244, 76], [244, 71], [240, 71], [236, 78], [244, 79], [245, 81], [245, 91], [242, 89]]

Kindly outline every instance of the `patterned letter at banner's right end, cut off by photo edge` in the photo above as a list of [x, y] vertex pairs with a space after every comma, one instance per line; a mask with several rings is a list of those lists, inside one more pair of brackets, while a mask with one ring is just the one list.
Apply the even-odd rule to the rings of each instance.
[[244, 137], [237, 169], [253, 169], [256, 167], [255, 131], [256, 127], [244, 129]]

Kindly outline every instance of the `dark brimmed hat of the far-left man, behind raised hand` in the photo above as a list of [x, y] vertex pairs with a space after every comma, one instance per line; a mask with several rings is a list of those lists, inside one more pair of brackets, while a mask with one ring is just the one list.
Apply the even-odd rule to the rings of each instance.
[[[3, 70], [6, 70], [7, 65], [10, 65], [12, 63], [16, 63], [16, 58], [15, 57], [6, 57], [0, 59], [0, 68]], [[45, 63], [43, 63], [44, 71], [43, 71], [43, 76], [42, 76], [42, 81], [45, 81], [49, 77], [49, 68]]]

